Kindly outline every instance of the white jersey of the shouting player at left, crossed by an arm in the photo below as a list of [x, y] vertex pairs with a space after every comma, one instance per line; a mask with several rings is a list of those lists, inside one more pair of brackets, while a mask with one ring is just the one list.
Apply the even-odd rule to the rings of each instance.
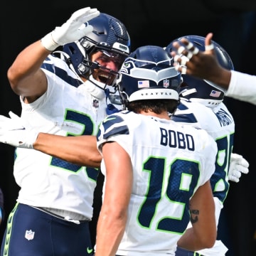
[[[90, 82], [82, 83], [59, 58], [50, 55], [42, 68], [48, 90], [31, 104], [21, 99], [21, 117], [40, 132], [96, 135], [106, 116], [105, 92], [93, 85], [99, 90], [93, 97], [87, 90]], [[97, 169], [70, 164], [41, 151], [16, 149], [14, 177], [21, 187], [19, 203], [68, 210], [91, 219], [97, 175]]]

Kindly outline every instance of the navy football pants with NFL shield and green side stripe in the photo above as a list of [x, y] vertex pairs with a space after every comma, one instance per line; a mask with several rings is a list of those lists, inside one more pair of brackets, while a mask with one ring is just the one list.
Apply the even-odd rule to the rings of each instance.
[[1, 256], [93, 255], [89, 223], [70, 223], [17, 203], [7, 220]]

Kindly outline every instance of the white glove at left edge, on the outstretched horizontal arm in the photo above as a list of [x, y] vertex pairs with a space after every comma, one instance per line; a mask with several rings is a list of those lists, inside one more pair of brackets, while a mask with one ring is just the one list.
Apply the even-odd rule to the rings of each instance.
[[0, 142], [11, 146], [33, 149], [38, 132], [26, 120], [9, 112], [9, 117], [0, 115]]

